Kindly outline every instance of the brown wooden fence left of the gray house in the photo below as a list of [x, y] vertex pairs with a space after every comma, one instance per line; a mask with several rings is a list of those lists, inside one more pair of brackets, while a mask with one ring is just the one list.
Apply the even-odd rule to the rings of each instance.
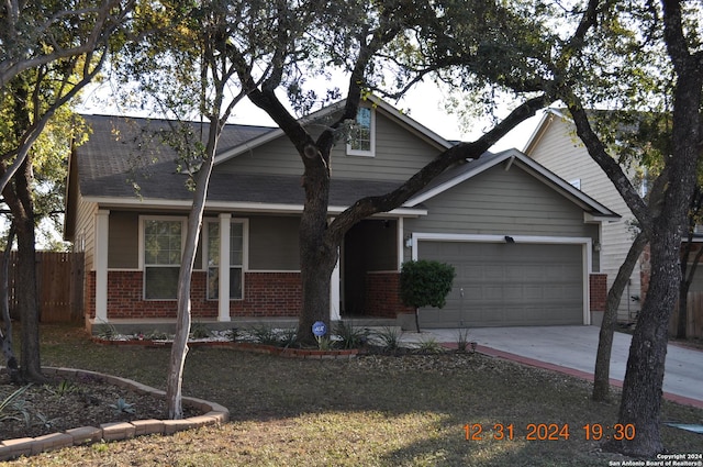
[[[8, 286], [10, 314], [19, 319], [18, 297], [26, 285], [16, 279], [16, 252], [10, 256]], [[0, 271], [0, 277], [1, 277]], [[83, 254], [36, 252], [36, 281], [40, 321], [43, 323], [81, 320], [83, 315]]]

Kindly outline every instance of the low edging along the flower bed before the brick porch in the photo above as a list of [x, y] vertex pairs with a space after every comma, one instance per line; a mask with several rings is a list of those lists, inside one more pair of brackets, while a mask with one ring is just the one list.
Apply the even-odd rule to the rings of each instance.
[[[110, 341], [100, 337], [92, 337], [92, 342], [100, 345], [127, 345], [142, 347], [169, 347], [170, 341]], [[236, 351], [253, 352], [258, 354], [270, 354], [288, 358], [308, 359], [344, 359], [354, 358], [359, 353], [358, 348], [319, 351], [314, 348], [291, 348], [277, 347], [275, 345], [255, 344], [249, 342], [222, 342], [222, 341], [194, 341], [188, 343], [189, 347], [226, 347]]]

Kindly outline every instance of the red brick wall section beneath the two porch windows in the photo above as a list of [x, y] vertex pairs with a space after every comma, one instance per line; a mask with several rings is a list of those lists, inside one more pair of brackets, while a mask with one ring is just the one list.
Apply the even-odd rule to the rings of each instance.
[[[142, 271], [108, 271], [108, 319], [175, 318], [175, 300], [143, 300]], [[217, 301], [205, 299], [207, 274], [193, 273], [193, 318], [216, 319]], [[230, 302], [231, 316], [297, 316], [302, 303], [299, 273], [245, 273], [244, 300]], [[96, 273], [86, 275], [86, 312], [96, 316]]]

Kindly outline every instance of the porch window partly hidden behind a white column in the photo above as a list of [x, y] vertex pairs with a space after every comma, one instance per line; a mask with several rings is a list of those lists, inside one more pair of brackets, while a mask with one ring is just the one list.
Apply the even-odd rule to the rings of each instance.
[[[220, 293], [220, 222], [208, 222], [208, 299]], [[230, 299], [244, 298], [244, 222], [230, 224]]]

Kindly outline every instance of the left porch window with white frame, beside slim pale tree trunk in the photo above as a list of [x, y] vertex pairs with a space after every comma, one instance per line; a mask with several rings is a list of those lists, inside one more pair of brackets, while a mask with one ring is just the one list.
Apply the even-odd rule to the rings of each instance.
[[144, 298], [176, 299], [183, 240], [183, 221], [144, 220]]

